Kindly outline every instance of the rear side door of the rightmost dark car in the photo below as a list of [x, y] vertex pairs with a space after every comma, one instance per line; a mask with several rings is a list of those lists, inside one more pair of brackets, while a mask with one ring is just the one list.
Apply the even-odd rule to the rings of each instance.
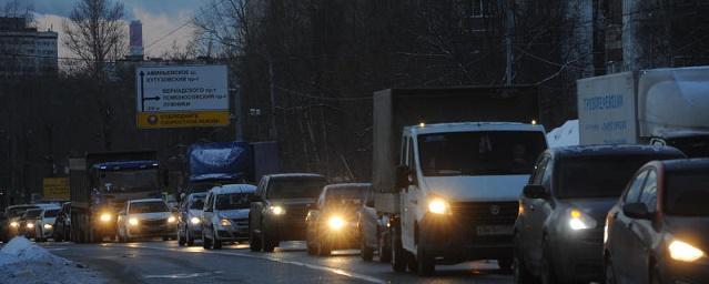
[[622, 280], [627, 280], [629, 275], [629, 270], [626, 264], [632, 261], [630, 258], [637, 257], [627, 251], [634, 240], [629, 231], [632, 220], [622, 213], [622, 206], [628, 203], [638, 202], [647, 175], [647, 170], [639, 171], [639, 173], [631, 179], [619, 204], [609, 212], [607, 246], [610, 250], [616, 277], [621, 282]]

